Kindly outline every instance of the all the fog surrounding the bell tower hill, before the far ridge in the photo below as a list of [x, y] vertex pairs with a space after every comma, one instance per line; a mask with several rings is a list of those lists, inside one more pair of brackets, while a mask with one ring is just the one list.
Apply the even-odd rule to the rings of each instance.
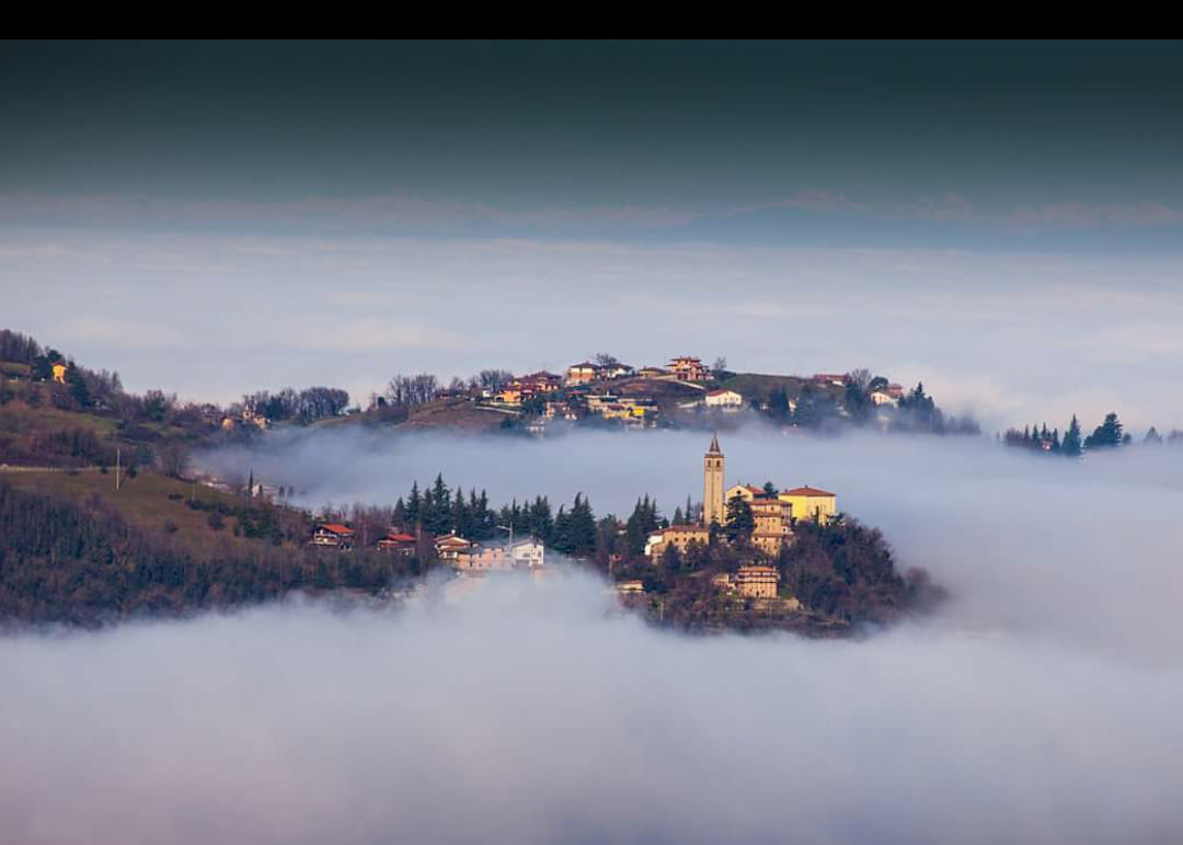
[[[605, 437], [322, 431], [252, 457], [384, 504], [437, 467], [494, 501], [578, 484], [597, 515], [700, 489], [700, 436]], [[613, 613], [583, 569], [403, 611], [7, 636], [6, 843], [1181, 839], [1179, 450], [755, 427], [722, 446], [729, 483], [835, 491], [950, 599], [845, 641], [685, 637]]]

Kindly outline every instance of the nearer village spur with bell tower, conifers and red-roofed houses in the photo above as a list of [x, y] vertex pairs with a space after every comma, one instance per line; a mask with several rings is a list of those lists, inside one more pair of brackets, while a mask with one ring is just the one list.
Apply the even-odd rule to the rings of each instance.
[[679, 505], [672, 520], [648, 497], [627, 520], [596, 520], [580, 496], [554, 515], [545, 497], [499, 511], [485, 502], [484, 492], [465, 496], [437, 478], [424, 492], [413, 486], [387, 512], [317, 524], [309, 543], [424, 560], [450, 569], [458, 587], [589, 566], [612, 580], [626, 607], [687, 628], [836, 634], [862, 621], [890, 621], [931, 595], [922, 574], [896, 572], [881, 535], [843, 515], [835, 494], [728, 484], [718, 437], [703, 457], [702, 502]]

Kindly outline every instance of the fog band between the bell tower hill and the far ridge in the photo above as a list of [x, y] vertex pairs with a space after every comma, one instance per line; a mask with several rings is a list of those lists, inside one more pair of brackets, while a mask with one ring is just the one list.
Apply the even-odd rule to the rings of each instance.
[[[644, 494], [666, 516], [702, 498], [709, 437], [580, 433], [550, 440], [358, 431], [269, 439], [211, 456], [245, 477], [292, 485], [300, 501], [394, 504], [437, 472], [487, 488], [493, 503], [576, 492], [627, 516]], [[728, 484], [812, 484], [883, 529], [904, 567], [927, 568], [953, 600], [943, 619], [971, 631], [1048, 637], [1124, 659], [1183, 665], [1183, 450], [1138, 446], [1084, 462], [1016, 453], [985, 439], [722, 437]]]

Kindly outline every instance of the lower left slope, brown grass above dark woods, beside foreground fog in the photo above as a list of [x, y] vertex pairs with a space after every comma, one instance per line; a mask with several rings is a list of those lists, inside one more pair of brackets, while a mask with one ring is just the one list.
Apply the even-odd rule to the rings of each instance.
[[0, 625], [101, 625], [272, 600], [373, 594], [421, 574], [415, 559], [303, 544], [297, 510], [141, 472], [0, 476]]

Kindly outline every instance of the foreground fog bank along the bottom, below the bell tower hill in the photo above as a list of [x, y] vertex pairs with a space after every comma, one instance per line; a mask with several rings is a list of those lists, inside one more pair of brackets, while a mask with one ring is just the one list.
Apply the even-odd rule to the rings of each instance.
[[1183, 675], [1013, 634], [687, 639], [584, 579], [0, 644], [6, 841], [1183, 834]]

